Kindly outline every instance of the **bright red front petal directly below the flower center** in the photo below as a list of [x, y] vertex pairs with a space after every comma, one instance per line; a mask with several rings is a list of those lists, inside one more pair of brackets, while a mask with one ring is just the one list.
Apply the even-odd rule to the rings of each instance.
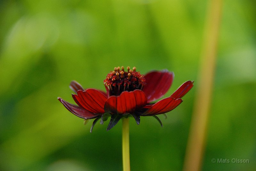
[[145, 93], [139, 89], [123, 91], [120, 96], [110, 96], [105, 104], [105, 112], [124, 114], [133, 113], [147, 104]]

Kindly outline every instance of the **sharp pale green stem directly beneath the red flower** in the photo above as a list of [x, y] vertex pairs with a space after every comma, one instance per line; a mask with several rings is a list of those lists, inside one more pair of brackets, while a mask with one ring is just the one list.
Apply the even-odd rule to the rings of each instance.
[[123, 118], [123, 170], [130, 171], [129, 118]]

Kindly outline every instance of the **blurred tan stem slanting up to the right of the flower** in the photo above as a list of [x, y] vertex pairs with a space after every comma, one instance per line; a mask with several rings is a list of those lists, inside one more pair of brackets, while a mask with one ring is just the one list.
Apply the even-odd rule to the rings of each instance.
[[204, 156], [207, 123], [211, 108], [215, 63], [217, 58], [218, 35], [220, 31], [222, 0], [209, 0], [205, 27], [204, 49], [199, 72], [198, 90], [192, 114], [184, 171], [201, 170]]

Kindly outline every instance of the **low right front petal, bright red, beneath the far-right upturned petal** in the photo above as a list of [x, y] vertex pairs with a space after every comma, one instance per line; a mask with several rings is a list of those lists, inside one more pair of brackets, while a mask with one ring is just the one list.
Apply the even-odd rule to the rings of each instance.
[[162, 113], [167, 113], [173, 110], [175, 107], [180, 105], [182, 100], [180, 98], [175, 99], [172, 97], [164, 98], [163, 100], [160, 100], [156, 104], [152, 105], [146, 112], [142, 114], [143, 115], [157, 115]]

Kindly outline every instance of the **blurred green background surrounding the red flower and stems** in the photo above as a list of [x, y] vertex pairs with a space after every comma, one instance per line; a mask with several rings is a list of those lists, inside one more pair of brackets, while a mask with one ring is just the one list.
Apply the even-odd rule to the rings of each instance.
[[[175, 73], [195, 87], [159, 116], [130, 120], [132, 170], [181, 170], [197, 88], [204, 0], [0, 1], [0, 170], [122, 170], [121, 122], [92, 133], [57, 97], [104, 90], [115, 66]], [[256, 168], [256, 3], [223, 2], [203, 170]], [[249, 164], [212, 159], [249, 159]]]

